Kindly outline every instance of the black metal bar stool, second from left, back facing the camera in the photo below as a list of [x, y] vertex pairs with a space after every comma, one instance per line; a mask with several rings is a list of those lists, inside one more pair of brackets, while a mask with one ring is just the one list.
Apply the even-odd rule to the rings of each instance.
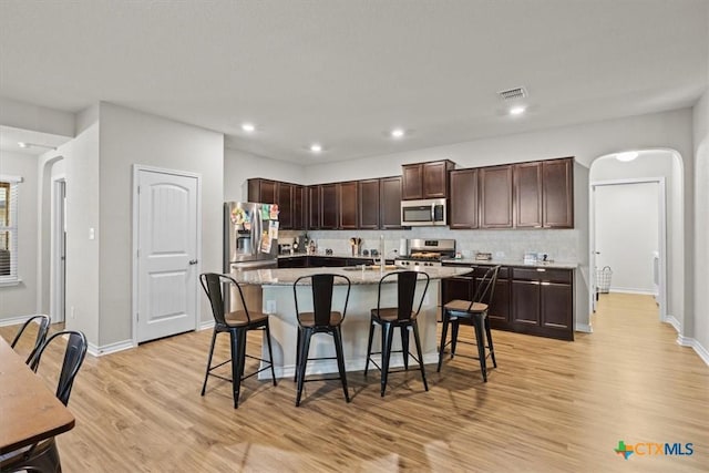
[[[312, 311], [301, 312], [298, 306], [298, 289], [302, 289], [306, 282], [311, 287]], [[332, 310], [332, 291], [335, 282], [339, 281], [342, 286], [347, 286], [345, 296], [345, 305], [342, 311]], [[326, 381], [339, 379], [342, 382], [342, 391], [345, 399], [350, 402], [350, 395], [347, 389], [347, 373], [345, 371], [345, 354], [342, 352], [342, 332], [341, 326], [347, 312], [347, 304], [350, 298], [350, 279], [346, 276], [335, 274], [318, 274], [301, 276], [292, 285], [292, 292], [296, 300], [296, 316], [298, 317], [298, 340], [296, 343], [296, 381], [298, 382], [298, 394], [296, 395], [296, 405], [300, 405], [302, 395], [302, 384], [306, 381]], [[301, 290], [301, 298], [305, 297]], [[301, 302], [305, 302], [301, 300]], [[302, 307], [302, 304], [300, 305]], [[316, 333], [328, 333], [332, 336], [335, 342], [336, 357], [318, 357], [308, 358], [310, 350], [310, 339]], [[306, 367], [310, 360], [331, 360], [337, 359], [339, 378], [317, 378], [306, 379]]]

